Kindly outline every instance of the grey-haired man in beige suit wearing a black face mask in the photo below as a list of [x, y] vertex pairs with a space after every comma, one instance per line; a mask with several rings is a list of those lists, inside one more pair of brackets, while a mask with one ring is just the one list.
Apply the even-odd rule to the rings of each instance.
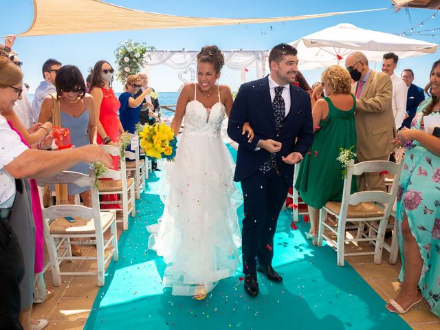
[[[383, 72], [374, 72], [362, 52], [354, 52], [345, 60], [345, 67], [354, 80], [356, 97], [355, 124], [358, 132], [358, 162], [388, 160], [393, 152], [391, 140], [396, 135], [393, 116], [393, 83]], [[379, 174], [362, 175], [360, 190], [386, 190]]]

